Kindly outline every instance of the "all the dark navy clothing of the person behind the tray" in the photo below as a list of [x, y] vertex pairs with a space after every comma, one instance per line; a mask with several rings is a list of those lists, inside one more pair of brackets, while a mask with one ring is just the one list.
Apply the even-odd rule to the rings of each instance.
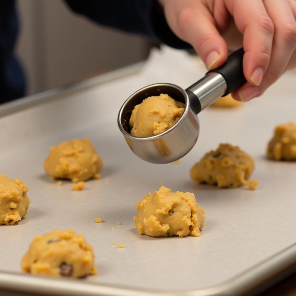
[[[75, 12], [130, 33], [146, 35], [175, 48], [190, 48], [168, 27], [157, 0], [65, 0]], [[13, 54], [18, 22], [15, 0], [0, 2], [0, 103], [25, 93], [25, 78]]]

